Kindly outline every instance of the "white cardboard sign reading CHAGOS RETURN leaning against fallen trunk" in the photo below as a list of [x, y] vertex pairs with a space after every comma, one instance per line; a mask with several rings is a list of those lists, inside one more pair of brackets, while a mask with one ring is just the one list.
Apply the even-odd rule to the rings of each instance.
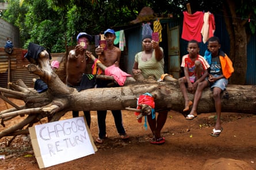
[[40, 169], [97, 151], [82, 116], [35, 125], [29, 128], [29, 133]]

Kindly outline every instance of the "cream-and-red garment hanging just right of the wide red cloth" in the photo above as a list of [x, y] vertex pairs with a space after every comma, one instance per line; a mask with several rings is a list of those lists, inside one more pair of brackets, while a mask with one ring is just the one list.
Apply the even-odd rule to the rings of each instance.
[[207, 13], [204, 13], [204, 23], [202, 25], [202, 30], [201, 30], [202, 42], [204, 42], [205, 44], [210, 37], [213, 37], [214, 32], [215, 32], [214, 15], [208, 11]]

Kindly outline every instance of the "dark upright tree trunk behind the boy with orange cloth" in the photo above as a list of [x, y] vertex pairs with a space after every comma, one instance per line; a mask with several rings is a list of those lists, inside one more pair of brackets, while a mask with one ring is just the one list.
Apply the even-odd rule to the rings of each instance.
[[230, 81], [231, 84], [244, 85], [246, 82], [246, 70], [247, 70], [247, 42], [249, 37], [246, 34], [246, 22], [239, 17], [234, 1], [226, 0], [223, 3], [223, 11], [226, 16], [227, 31], [230, 35], [230, 58], [233, 62], [235, 72], [232, 74]]

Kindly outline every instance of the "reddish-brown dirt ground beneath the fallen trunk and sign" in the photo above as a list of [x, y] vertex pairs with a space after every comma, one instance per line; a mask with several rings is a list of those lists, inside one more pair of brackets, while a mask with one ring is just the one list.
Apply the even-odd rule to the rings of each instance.
[[[16, 100], [14, 102], [21, 104]], [[7, 106], [0, 99], [0, 110], [5, 110]], [[82, 112], [79, 115], [82, 116]], [[23, 118], [8, 121], [6, 126], [12, 126]], [[71, 118], [71, 112], [66, 113], [63, 119], [66, 118]], [[114, 126], [113, 116], [108, 112], [108, 139], [104, 144], [95, 144], [98, 151], [94, 155], [44, 169], [196, 170], [202, 169], [205, 161], [220, 158], [242, 160], [256, 169], [256, 115], [222, 113], [221, 120], [223, 132], [219, 137], [212, 137], [209, 134], [215, 124], [215, 113], [201, 113], [193, 121], [188, 121], [181, 113], [171, 110], [162, 129], [166, 143], [153, 145], [149, 143], [150, 128], [146, 130], [143, 122], [138, 123], [133, 112], [127, 110], [123, 110], [123, 123], [129, 139], [121, 140]], [[2, 130], [3, 127], [0, 126], [0, 131]], [[95, 139], [98, 134], [95, 111], [91, 112], [90, 131]], [[9, 140], [11, 138], [8, 137]], [[0, 160], [0, 169], [39, 169], [29, 135], [17, 136], [9, 147], [5, 147], [6, 143], [6, 137], [0, 139], [0, 155], [6, 157], [5, 160]]]

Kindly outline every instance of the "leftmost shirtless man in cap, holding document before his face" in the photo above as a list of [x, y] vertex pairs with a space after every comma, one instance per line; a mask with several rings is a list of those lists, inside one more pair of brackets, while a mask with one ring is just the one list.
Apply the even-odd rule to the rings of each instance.
[[[86, 73], [86, 66], [88, 64], [86, 52], [91, 39], [93, 39], [91, 35], [84, 32], [79, 33], [77, 35], [77, 45], [75, 46], [75, 49], [71, 50], [68, 54], [66, 65], [66, 84], [69, 87], [79, 89], [83, 73]], [[83, 113], [85, 114], [87, 125], [90, 128], [90, 111], [83, 111]], [[79, 111], [73, 110], [72, 116], [78, 117]]]

